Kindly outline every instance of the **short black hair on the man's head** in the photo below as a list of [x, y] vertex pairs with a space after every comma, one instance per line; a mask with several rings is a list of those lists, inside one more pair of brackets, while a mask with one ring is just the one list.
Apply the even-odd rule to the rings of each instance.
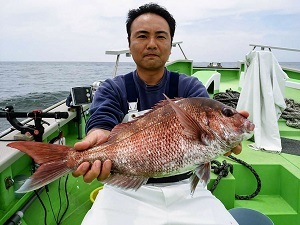
[[176, 27], [176, 21], [174, 17], [168, 12], [168, 10], [156, 3], [148, 3], [145, 5], [140, 6], [137, 9], [131, 9], [128, 12], [127, 20], [126, 20], [126, 30], [128, 35], [128, 41], [130, 40], [131, 35], [131, 24], [132, 22], [139, 17], [140, 15], [143, 15], [145, 13], [153, 13], [158, 16], [161, 16], [164, 18], [170, 27], [170, 34], [171, 34], [171, 44], [173, 41], [173, 37], [175, 34], [175, 27]]

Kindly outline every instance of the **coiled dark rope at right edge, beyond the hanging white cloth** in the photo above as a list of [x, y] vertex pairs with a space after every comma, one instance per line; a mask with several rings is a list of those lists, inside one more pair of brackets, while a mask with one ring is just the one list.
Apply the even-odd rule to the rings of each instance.
[[285, 99], [286, 109], [282, 112], [281, 118], [286, 120], [289, 127], [300, 129], [300, 103], [293, 99]]

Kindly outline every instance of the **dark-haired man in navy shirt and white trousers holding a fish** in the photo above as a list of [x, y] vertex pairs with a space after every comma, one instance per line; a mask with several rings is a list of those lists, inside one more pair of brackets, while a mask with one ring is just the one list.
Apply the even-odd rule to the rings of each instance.
[[[172, 15], [157, 4], [129, 11], [126, 27], [136, 71], [108, 79], [99, 87], [90, 108], [87, 136], [75, 144], [77, 150], [108, 139], [110, 130], [129, 111], [132, 93], [139, 110], [149, 109], [164, 99], [163, 93], [174, 95], [171, 97], [208, 97], [205, 87], [196, 78], [171, 73], [165, 68], [175, 25]], [[232, 150], [240, 151], [241, 146]], [[91, 167], [87, 162], [82, 163], [73, 175], [83, 175], [85, 182], [103, 181], [110, 169], [110, 160], [103, 164], [98, 160]], [[187, 175], [172, 179], [148, 181], [136, 192], [105, 185], [83, 224], [237, 224], [205, 188], [197, 187], [192, 197]]]

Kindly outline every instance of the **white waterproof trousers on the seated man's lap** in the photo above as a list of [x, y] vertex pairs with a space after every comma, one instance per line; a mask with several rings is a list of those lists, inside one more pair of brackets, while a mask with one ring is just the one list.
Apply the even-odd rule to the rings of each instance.
[[82, 225], [237, 225], [224, 205], [198, 185], [193, 196], [188, 180], [143, 185], [137, 191], [105, 185]]

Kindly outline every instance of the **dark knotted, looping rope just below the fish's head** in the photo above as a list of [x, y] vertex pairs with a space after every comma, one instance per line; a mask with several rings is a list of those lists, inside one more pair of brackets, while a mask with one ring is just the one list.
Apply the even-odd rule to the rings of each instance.
[[[258, 173], [253, 169], [253, 167], [251, 165], [249, 165], [245, 161], [238, 159], [232, 155], [229, 155], [228, 157], [231, 158], [232, 160], [244, 165], [245, 167], [247, 167], [253, 173], [253, 175], [255, 176], [256, 181], [257, 181], [256, 190], [252, 194], [250, 194], [250, 195], [237, 195], [236, 194], [235, 198], [238, 200], [249, 200], [249, 199], [252, 199], [255, 196], [257, 196], [261, 190], [261, 180], [260, 180]], [[220, 162], [218, 162], [216, 160], [213, 160], [211, 162], [211, 164], [212, 164], [211, 168], [213, 169], [213, 172], [215, 174], [218, 174], [217, 179], [215, 180], [215, 182], [213, 183], [213, 185], [210, 189], [211, 193], [213, 193], [214, 190], [216, 189], [217, 185], [220, 183], [222, 177], [226, 177], [229, 172], [233, 174], [233, 165], [227, 163], [226, 160], [223, 161], [223, 164], [221, 164]], [[216, 164], [216, 166], [214, 166], [214, 164]]]

